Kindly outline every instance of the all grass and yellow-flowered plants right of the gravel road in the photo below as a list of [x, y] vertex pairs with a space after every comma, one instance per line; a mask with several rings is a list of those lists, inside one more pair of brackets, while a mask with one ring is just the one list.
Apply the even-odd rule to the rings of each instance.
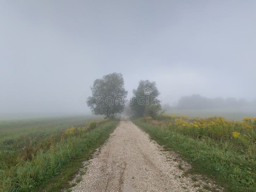
[[256, 118], [157, 115], [133, 122], [165, 148], [190, 162], [227, 191], [256, 191]]

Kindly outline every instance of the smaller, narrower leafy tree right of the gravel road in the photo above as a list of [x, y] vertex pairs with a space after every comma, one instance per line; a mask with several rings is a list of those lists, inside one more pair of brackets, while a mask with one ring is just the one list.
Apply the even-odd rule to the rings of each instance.
[[140, 80], [138, 88], [133, 90], [133, 97], [130, 101], [135, 115], [155, 116], [161, 110], [160, 102], [157, 99], [159, 94], [156, 82]]

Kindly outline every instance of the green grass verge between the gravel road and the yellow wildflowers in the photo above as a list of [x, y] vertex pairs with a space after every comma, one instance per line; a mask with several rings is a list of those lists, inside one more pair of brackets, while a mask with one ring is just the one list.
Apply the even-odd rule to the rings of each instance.
[[256, 191], [254, 159], [230, 150], [225, 146], [212, 145], [210, 138], [194, 139], [179, 132], [163, 129], [134, 119], [133, 123], [142, 128], [158, 144], [174, 150], [189, 162], [191, 173], [200, 173], [213, 178], [226, 191]]

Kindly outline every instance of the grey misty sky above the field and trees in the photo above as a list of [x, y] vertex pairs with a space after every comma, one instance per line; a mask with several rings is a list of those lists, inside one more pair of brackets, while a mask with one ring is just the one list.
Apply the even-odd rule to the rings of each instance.
[[256, 1], [0, 1], [0, 113], [88, 111], [96, 78], [256, 98]]

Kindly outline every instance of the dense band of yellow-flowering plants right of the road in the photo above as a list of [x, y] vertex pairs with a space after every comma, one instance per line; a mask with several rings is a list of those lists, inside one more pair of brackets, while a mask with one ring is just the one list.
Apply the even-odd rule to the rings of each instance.
[[256, 142], [256, 118], [244, 117], [243, 122], [231, 121], [223, 117], [191, 119], [187, 116], [158, 115], [156, 120], [170, 130], [190, 135], [193, 138], [210, 137], [240, 143], [239, 148], [247, 149]]

